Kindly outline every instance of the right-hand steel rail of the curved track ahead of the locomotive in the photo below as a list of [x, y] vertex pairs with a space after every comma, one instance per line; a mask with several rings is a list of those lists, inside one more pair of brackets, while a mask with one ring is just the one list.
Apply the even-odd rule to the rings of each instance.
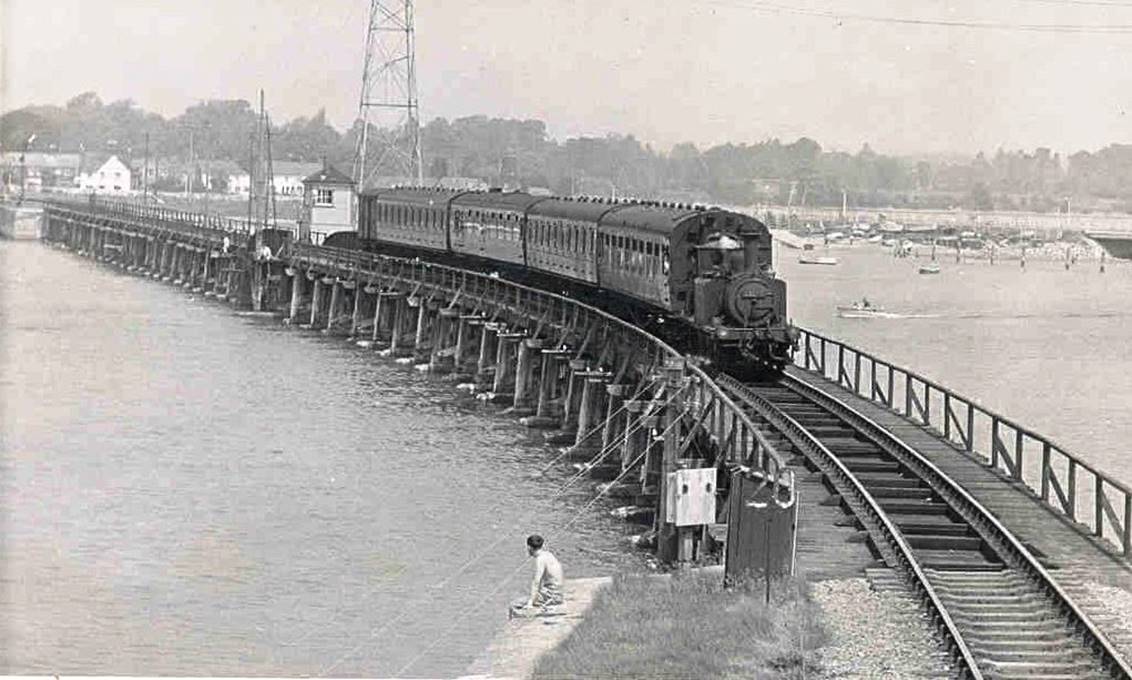
[[1012, 568], [1024, 574], [1031, 584], [1053, 600], [1053, 603], [1065, 614], [1065, 618], [1073, 628], [1083, 636], [1087, 646], [1100, 656], [1101, 665], [1114, 678], [1132, 680], [1132, 668], [1129, 666], [1127, 662], [1115, 649], [1105, 634], [1096, 627], [1073, 599], [1057, 585], [1057, 582], [1049, 571], [1041, 566], [1034, 553], [1022, 544], [1018, 536], [1006, 528], [993, 513], [971, 497], [958, 482], [874, 420], [817, 386], [789, 373], [783, 375], [780, 384], [850, 423], [854, 429], [867, 436], [874, 444], [900, 460], [901, 464], [915, 472], [923, 481], [927, 482], [932, 490], [949, 507], [959, 513], [964, 522], [981, 534], [983, 539], [994, 548], [998, 557], [1005, 558], [1005, 561]]

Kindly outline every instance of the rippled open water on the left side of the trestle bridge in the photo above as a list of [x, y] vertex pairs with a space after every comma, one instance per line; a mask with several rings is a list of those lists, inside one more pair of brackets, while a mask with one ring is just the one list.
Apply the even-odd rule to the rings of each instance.
[[451, 381], [38, 243], [0, 242], [0, 407], [2, 673], [453, 675], [526, 533], [642, 567]]

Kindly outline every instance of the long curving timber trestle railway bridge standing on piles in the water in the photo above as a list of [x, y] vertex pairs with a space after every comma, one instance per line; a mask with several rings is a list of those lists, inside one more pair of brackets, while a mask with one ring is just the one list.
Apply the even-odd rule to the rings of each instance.
[[[805, 578], [865, 574], [921, 603], [954, 677], [1132, 678], [1132, 622], [1095, 588], [1132, 591], [1132, 491], [873, 354], [803, 329], [781, 378], [743, 381], [548, 291], [238, 221], [50, 201], [43, 234], [454, 376], [547, 430], [564, 446], [551, 463], [624, 499], [619, 510], [653, 527], [645, 542], [662, 560], [722, 543], [729, 561], [773, 553]], [[683, 522], [681, 496], [696, 493], [687, 481], [700, 479], [684, 473], [710, 467], [730, 473], [711, 475], [712, 516]], [[715, 509], [715, 496], [748, 484], [753, 496]], [[792, 508], [780, 542], [739, 527], [764, 506]]]

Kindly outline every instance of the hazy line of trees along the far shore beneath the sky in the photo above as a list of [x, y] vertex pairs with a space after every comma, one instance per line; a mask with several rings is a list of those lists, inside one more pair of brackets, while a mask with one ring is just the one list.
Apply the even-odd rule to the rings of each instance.
[[[245, 100], [206, 101], [173, 118], [134, 102], [103, 103], [83, 93], [63, 106], [27, 106], [0, 117], [0, 144], [22, 150], [118, 153], [137, 158], [208, 158], [247, 165], [258, 112]], [[374, 138], [384, 131], [371, 130]], [[360, 121], [340, 131], [325, 111], [272, 126], [275, 161], [326, 160], [350, 172]], [[556, 140], [539, 120], [472, 115], [421, 127], [424, 175], [599, 193], [794, 206], [1132, 212], [1132, 145], [1067, 157], [1048, 148], [998, 149], [972, 158], [892, 156], [865, 145], [826, 150], [809, 138], [766, 139], [667, 152], [633, 135]], [[191, 152], [191, 154], [190, 154]], [[393, 161], [370, 162], [378, 175], [402, 174]], [[375, 167], [376, 165], [376, 167]], [[222, 179], [222, 178], [217, 178]]]

